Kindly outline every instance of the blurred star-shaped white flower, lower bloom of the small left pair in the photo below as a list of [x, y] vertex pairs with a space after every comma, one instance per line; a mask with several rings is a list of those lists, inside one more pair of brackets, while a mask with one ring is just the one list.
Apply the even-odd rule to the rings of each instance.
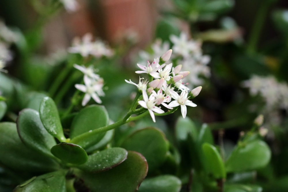
[[105, 96], [103, 92], [103, 79], [98, 79], [98, 81], [96, 81], [90, 79], [88, 76], [84, 76], [84, 85], [75, 84], [75, 88], [85, 93], [82, 100], [82, 106], [85, 106], [91, 97], [95, 102], [101, 104], [102, 101], [99, 96]]

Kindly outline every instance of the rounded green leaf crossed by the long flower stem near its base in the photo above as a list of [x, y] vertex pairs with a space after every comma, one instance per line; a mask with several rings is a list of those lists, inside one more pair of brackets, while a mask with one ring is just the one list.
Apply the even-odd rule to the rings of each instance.
[[[105, 132], [93, 134], [81, 141], [77, 140], [77, 136], [107, 126], [108, 123], [108, 112], [104, 106], [90, 105], [85, 107], [73, 119], [70, 132], [70, 138], [72, 138], [71, 142], [82, 146], [84, 149], [95, 145], [105, 136]], [[75, 140], [77, 140], [77, 142], [75, 142]]]

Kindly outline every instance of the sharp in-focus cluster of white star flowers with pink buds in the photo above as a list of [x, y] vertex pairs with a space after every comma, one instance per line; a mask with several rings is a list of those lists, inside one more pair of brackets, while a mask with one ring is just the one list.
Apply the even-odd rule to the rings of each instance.
[[171, 54], [172, 50], [168, 50], [160, 59], [154, 59], [151, 64], [147, 61], [147, 66], [137, 64], [141, 71], [136, 71], [136, 73], [148, 74], [150, 81], [139, 78], [139, 83], [136, 84], [131, 79], [130, 81], [125, 80], [127, 83], [135, 85], [139, 92], [142, 93], [143, 100], [139, 100], [138, 104], [149, 111], [154, 122], [154, 113], [164, 113], [164, 110], [158, 107], [160, 105], [167, 109], [180, 106], [182, 116], [185, 118], [187, 114], [186, 106], [197, 106], [189, 98], [196, 97], [202, 88], [201, 86], [197, 87], [190, 94], [188, 93], [189, 88], [184, 83], [179, 82], [190, 72], [181, 71], [181, 65], [173, 67], [172, 63], [164, 64], [164, 62], [169, 60]]

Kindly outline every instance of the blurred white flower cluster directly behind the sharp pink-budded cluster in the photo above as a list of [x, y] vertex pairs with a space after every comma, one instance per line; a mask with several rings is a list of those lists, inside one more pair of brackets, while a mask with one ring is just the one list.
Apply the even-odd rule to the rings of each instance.
[[[198, 86], [203, 83], [201, 76], [208, 78], [210, 76], [210, 68], [207, 64], [210, 62], [210, 56], [203, 55], [202, 43], [188, 39], [186, 33], [182, 32], [180, 36], [171, 35], [170, 41], [173, 43], [173, 54], [171, 56], [178, 65], [182, 65], [184, 71], [190, 71], [192, 74], [185, 78], [185, 81], [190, 83], [190, 86]], [[150, 52], [139, 52], [143, 60], [151, 60], [156, 58], [156, 55], [163, 53], [169, 48], [168, 42], [162, 42], [157, 39], [151, 45]], [[181, 82], [182, 83], [182, 82]]]

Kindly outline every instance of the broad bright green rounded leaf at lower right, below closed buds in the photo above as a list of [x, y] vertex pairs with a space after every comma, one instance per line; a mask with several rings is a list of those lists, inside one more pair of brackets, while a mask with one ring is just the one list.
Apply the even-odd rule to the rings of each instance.
[[227, 172], [243, 172], [266, 166], [271, 158], [268, 145], [261, 140], [255, 140], [238, 145], [226, 161]]

